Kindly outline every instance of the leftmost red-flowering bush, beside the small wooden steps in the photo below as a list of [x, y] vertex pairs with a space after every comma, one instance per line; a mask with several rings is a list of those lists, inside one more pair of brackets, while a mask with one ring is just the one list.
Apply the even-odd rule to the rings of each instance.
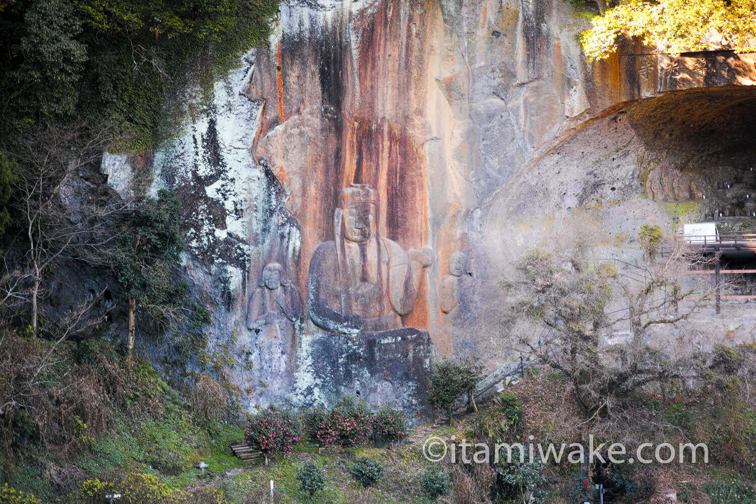
[[246, 443], [268, 455], [276, 451], [290, 452], [302, 438], [299, 415], [271, 406], [253, 416], [246, 429]]

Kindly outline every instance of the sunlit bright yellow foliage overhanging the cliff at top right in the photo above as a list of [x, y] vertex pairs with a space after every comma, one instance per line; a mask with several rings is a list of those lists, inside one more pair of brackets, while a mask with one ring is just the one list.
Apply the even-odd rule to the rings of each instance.
[[580, 37], [589, 61], [609, 57], [622, 35], [676, 55], [712, 47], [756, 50], [756, 0], [625, 0], [591, 22]]

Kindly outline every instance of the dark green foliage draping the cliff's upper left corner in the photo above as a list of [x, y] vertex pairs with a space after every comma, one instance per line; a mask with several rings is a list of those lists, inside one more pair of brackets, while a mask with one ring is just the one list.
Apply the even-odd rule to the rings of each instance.
[[77, 116], [150, 149], [178, 77], [218, 79], [276, 14], [277, 0], [0, 1], [0, 135]]

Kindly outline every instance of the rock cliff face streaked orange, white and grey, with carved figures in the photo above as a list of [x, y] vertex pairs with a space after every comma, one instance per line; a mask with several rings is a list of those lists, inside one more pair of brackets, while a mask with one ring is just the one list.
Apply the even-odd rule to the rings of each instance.
[[[589, 19], [563, 0], [281, 5], [151, 164], [250, 408], [420, 407], [432, 358], [506, 360], [499, 283], [526, 249], [590, 222], [597, 254], [632, 258], [640, 224], [679, 221], [670, 199], [711, 212], [712, 162], [754, 160], [756, 56], [627, 42], [587, 65]], [[134, 165], [104, 172], [121, 187]], [[312, 315], [322, 282], [333, 324]]]

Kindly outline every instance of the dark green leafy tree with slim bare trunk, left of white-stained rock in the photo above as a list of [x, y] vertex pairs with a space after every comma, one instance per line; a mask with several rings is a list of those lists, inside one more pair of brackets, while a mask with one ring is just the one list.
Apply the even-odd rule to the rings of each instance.
[[174, 279], [184, 237], [181, 205], [169, 190], [146, 198], [122, 218], [118, 253], [113, 265], [118, 282], [129, 296], [129, 356], [134, 349], [136, 316], [174, 322], [184, 317], [186, 286]]

